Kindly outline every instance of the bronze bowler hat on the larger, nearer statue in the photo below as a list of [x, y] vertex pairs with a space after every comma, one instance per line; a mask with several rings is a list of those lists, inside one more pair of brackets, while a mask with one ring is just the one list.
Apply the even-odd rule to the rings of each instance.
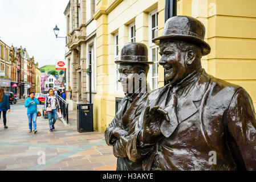
[[159, 45], [160, 40], [183, 40], [202, 48], [202, 55], [210, 53], [210, 46], [204, 41], [205, 26], [199, 20], [190, 16], [173, 16], [166, 20], [164, 32], [152, 41]]

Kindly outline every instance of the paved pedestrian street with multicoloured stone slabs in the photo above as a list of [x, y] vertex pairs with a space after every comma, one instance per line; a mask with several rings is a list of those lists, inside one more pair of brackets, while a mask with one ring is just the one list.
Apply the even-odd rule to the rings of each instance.
[[[39, 106], [42, 112], [43, 105]], [[101, 171], [115, 170], [112, 147], [105, 144], [104, 133], [79, 133], [76, 112], [70, 111], [70, 126], [61, 121], [50, 132], [48, 119], [36, 121], [38, 133], [29, 133], [23, 102], [11, 105], [8, 129], [0, 122], [0, 170], [8, 171]]]

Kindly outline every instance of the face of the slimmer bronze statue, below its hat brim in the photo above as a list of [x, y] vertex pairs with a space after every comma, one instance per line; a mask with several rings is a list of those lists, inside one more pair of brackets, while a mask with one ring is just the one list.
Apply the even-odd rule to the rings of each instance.
[[139, 73], [138, 69], [132, 64], [120, 64], [118, 69], [120, 73], [119, 82], [123, 87], [124, 93], [135, 93], [139, 89], [140, 78], [145, 74]]

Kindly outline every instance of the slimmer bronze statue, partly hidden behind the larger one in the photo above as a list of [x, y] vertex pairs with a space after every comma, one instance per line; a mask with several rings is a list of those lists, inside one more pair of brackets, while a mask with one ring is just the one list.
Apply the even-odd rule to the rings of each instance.
[[142, 43], [127, 43], [121, 50], [119, 82], [123, 86], [125, 97], [115, 118], [105, 130], [105, 141], [113, 146], [113, 154], [117, 157], [117, 171], [142, 170], [141, 160], [131, 162], [125, 151], [129, 133], [135, 131], [136, 115], [141, 114], [139, 106], [145, 102], [150, 90], [147, 86], [149, 64], [148, 49]]

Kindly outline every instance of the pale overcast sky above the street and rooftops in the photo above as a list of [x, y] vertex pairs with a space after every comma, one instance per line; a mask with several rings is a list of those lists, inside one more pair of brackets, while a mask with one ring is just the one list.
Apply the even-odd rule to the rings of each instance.
[[0, 39], [11, 47], [26, 48], [39, 67], [64, 60], [66, 36], [64, 10], [68, 0], [0, 0]]

